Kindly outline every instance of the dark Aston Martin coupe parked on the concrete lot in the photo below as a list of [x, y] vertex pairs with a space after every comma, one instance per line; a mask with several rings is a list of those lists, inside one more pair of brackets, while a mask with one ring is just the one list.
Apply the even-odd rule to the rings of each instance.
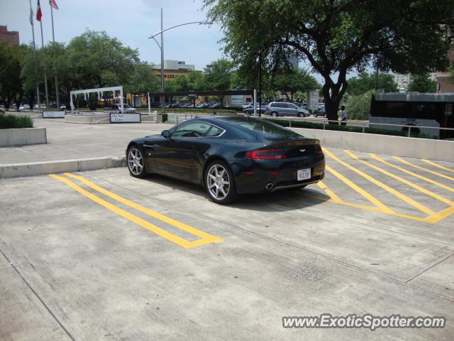
[[196, 183], [218, 204], [241, 193], [304, 188], [325, 175], [319, 140], [240, 116], [191, 119], [160, 135], [134, 139], [126, 161], [135, 178], [159, 173]]

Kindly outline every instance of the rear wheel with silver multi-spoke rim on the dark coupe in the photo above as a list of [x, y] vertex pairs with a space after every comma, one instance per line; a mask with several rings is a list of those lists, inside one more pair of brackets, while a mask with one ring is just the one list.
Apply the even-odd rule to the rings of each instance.
[[[228, 182], [228, 186], [226, 182]], [[224, 161], [215, 160], [206, 167], [204, 185], [210, 200], [216, 204], [226, 205], [238, 199], [235, 178], [233, 178], [230, 167]]]

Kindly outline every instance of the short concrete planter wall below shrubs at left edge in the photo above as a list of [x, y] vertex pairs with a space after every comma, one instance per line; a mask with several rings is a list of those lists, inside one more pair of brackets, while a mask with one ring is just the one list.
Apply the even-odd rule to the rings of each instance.
[[45, 128], [0, 129], [0, 147], [46, 144]]

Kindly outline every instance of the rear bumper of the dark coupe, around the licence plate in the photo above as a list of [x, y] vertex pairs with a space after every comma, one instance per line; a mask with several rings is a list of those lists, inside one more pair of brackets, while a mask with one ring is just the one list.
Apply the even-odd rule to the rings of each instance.
[[[249, 160], [232, 163], [238, 193], [264, 193], [318, 183], [325, 176], [325, 157]], [[311, 168], [311, 178], [297, 180], [297, 171]], [[272, 186], [268, 186], [272, 184]]]

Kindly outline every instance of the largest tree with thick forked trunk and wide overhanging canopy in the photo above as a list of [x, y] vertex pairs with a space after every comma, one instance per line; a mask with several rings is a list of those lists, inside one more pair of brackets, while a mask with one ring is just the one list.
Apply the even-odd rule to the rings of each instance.
[[328, 119], [337, 119], [346, 76], [373, 65], [400, 73], [444, 70], [454, 33], [445, 0], [204, 0], [221, 24], [225, 52], [245, 68], [267, 69], [291, 53], [319, 72]]

